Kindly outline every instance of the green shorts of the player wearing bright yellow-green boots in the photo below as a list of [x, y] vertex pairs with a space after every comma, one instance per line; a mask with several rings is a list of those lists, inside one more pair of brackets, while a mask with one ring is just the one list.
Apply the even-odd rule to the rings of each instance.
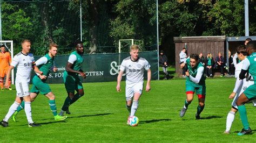
[[41, 92], [41, 94], [46, 95], [51, 92], [51, 89], [47, 83], [43, 82], [37, 75], [35, 75], [32, 79], [32, 88], [30, 92], [36, 94]]

